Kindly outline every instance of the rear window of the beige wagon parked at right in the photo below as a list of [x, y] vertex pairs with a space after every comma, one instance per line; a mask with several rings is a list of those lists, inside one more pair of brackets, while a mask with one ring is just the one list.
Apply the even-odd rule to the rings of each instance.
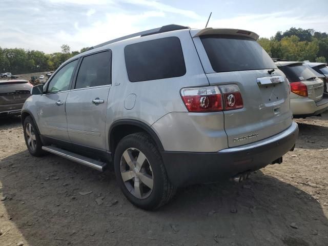
[[282, 66], [279, 69], [286, 75], [290, 82], [296, 82], [301, 80], [307, 80], [317, 77], [310, 68], [303, 66], [302, 64], [293, 64], [289, 66]]

